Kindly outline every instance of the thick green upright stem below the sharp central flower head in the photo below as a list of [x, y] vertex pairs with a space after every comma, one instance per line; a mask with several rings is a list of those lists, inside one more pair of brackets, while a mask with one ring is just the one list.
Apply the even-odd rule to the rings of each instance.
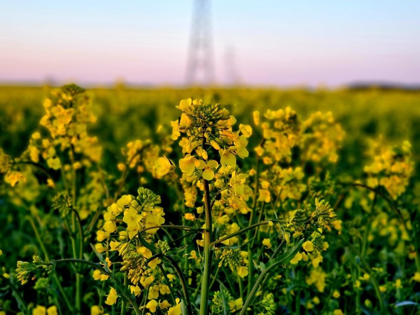
[[211, 207], [210, 207], [210, 187], [209, 182], [203, 178], [204, 184], [204, 206], [206, 211], [206, 230], [204, 234], [204, 272], [201, 279], [201, 303], [200, 315], [207, 315], [207, 308], [209, 303], [209, 290], [210, 290], [210, 268], [211, 268]]

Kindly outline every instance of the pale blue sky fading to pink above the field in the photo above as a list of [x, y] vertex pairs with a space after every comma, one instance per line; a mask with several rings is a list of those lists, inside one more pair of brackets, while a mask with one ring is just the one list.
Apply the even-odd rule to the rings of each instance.
[[[210, 0], [214, 82], [420, 83], [420, 1]], [[193, 0], [0, 0], [0, 83], [182, 85]]]

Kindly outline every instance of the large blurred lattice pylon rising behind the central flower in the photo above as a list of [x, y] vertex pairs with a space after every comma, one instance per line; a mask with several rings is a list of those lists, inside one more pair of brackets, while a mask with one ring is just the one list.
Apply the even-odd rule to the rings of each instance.
[[186, 84], [214, 82], [210, 0], [194, 0], [188, 49]]

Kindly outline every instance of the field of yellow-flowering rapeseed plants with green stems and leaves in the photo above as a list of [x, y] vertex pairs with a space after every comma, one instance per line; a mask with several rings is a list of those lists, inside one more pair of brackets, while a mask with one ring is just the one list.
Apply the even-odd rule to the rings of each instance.
[[420, 92], [0, 87], [0, 315], [420, 314]]

